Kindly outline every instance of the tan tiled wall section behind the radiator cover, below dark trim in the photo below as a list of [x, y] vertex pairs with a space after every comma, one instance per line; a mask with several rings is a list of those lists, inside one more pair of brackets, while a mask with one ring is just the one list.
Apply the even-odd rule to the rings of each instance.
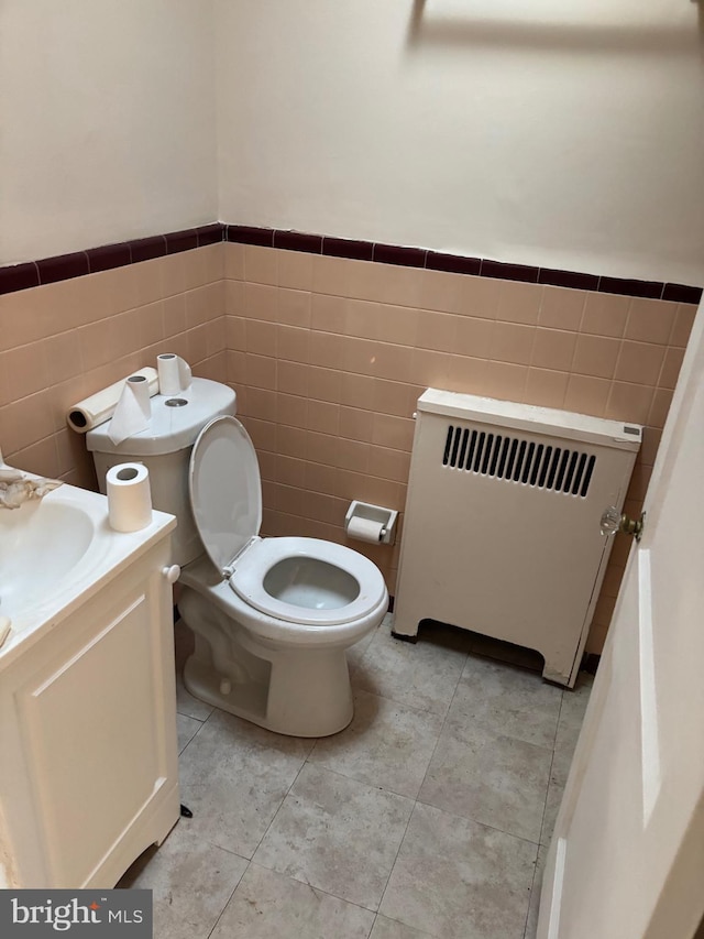
[[[344, 542], [352, 499], [403, 510], [427, 386], [642, 423], [638, 514], [695, 305], [253, 244], [224, 245], [227, 374], [260, 455], [266, 532]], [[352, 546], [394, 591], [397, 544]], [[629, 548], [617, 536], [587, 649]]]

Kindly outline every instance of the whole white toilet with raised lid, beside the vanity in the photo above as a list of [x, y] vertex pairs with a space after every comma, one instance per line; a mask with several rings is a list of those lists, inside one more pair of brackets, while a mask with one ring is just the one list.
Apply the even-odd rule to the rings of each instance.
[[[155, 473], [170, 477], [167, 483], [157, 479], [156, 485], [153, 480], [153, 492], [183, 493], [185, 480], [174, 477], [187, 476], [188, 513], [183, 498], [177, 506], [173, 499], [170, 505], [154, 499], [157, 509], [187, 514], [199, 539], [200, 552], [187, 559], [179, 579], [178, 610], [196, 636], [184, 668], [186, 688], [277, 733], [337, 733], [353, 716], [345, 649], [384, 618], [384, 579], [372, 561], [342, 545], [260, 535], [262, 487], [254, 447], [234, 416], [234, 401], [216, 406], [209, 385], [224, 387], [195, 379], [190, 400], [198, 400], [202, 415], [202, 398], [212, 393], [215, 416], [200, 425], [195, 443], [191, 438], [186, 445], [179, 436], [176, 459], [157, 461], [145, 452], [164, 456], [157, 415], [169, 405], [162, 395], [152, 398], [150, 430], [118, 447], [107, 443], [107, 434], [96, 438], [100, 428], [89, 432], [99, 479], [103, 484], [107, 462], [125, 460], [144, 462], [152, 480]], [[169, 410], [170, 435], [177, 412], [186, 407]], [[152, 443], [140, 443], [142, 435]], [[111, 450], [109, 458], [101, 448]], [[178, 555], [173, 559], [184, 563]]]

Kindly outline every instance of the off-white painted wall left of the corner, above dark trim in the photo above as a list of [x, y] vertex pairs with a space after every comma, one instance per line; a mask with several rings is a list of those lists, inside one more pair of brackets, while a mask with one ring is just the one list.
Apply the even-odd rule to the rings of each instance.
[[0, 0], [0, 264], [215, 221], [212, 0]]

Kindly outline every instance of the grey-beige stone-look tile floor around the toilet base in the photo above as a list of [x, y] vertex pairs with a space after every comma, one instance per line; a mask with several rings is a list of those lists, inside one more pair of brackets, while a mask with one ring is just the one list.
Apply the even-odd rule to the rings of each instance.
[[[177, 625], [177, 668], [190, 634]], [[509, 653], [513, 664], [497, 662]], [[350, 651], [355, 717], [279, 736], [178, 677], [182, 819], [119, 886], [155, 939], [531, 939], [540, 871], [591, 688], [442, 626], [389, 618]]]

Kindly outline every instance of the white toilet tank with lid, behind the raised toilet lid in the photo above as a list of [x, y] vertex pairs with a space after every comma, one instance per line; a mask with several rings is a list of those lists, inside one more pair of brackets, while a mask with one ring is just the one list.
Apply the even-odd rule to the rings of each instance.
[[106, 473], [117, 463], [144, 463], [150, 471], [152, 504], [176, 515], [172, 535], [172, 561], [185, 565], [202, 553], [188, 494], [190, 451], [202, 428], [215, 417], [237, 413], [237, 395], [231, 387], [209, 379], [194, 379], [178, 395], [156, 394], [151, 398], [150, 426], [121, 444], [108, 435], [110, 422], [86, 434], [92, 452], [100, 492], [106, 492]]

